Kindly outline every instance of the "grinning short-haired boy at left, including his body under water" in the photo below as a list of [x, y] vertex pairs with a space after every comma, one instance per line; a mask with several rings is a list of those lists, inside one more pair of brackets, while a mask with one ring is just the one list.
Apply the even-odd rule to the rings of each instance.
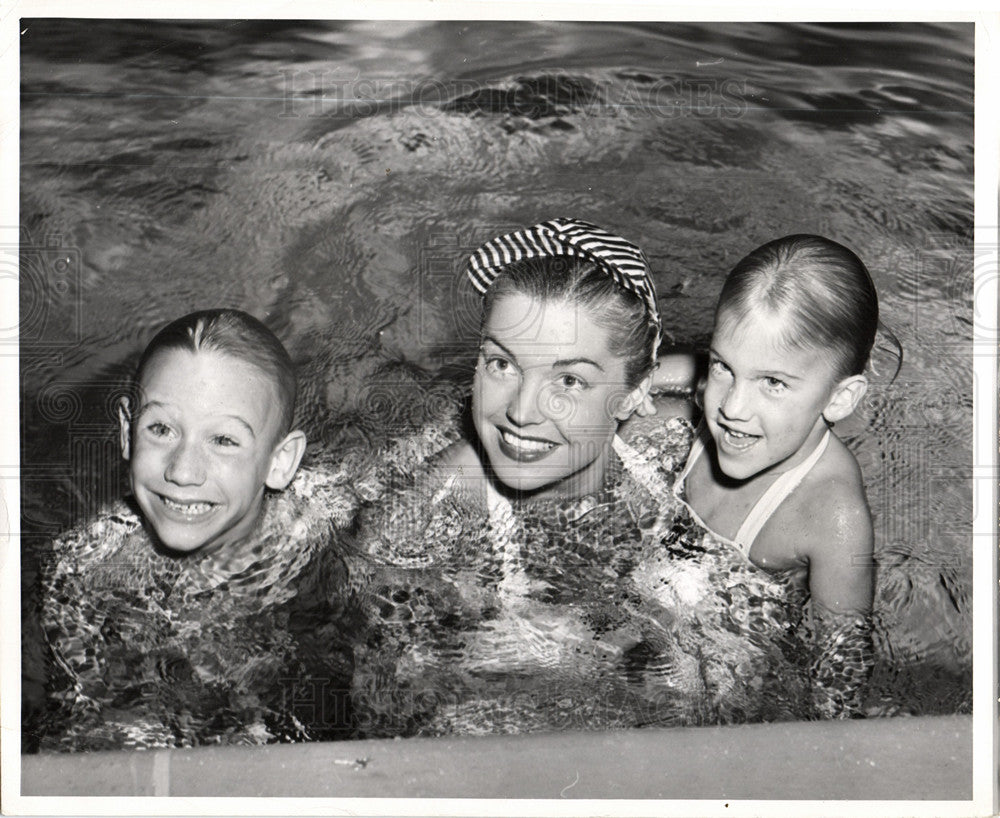
[[192, 313], [149, 344], [119, 407], [132, 496], [52, 545], [43, 749], [343, 736], [330, 540], [354, 501], [298, 471], [295, 393], [288, 353], [246, 313]]

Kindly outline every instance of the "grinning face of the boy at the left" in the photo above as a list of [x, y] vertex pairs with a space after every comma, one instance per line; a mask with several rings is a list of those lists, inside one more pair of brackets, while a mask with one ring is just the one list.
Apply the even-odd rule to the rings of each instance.
[[177, 349], [155, 355], [139, 387], [122, 447], [157, 537], [177, 551], [245, 537], [282, 446], [277, 387], [238, 358]]

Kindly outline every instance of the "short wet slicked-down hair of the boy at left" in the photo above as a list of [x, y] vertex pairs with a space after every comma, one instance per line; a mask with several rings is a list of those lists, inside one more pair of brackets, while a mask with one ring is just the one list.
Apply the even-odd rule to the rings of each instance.
[[279, 438], [291, 429], [298, 389], [295, 365], [275, 334], [252, 315], [232, 309], [201, 310], [167, 324], [142, 353], [135, 373], [136, 386], [142, 384], [152, 359], [171, 349], [218, 352], [257, 367], [278, 393]]

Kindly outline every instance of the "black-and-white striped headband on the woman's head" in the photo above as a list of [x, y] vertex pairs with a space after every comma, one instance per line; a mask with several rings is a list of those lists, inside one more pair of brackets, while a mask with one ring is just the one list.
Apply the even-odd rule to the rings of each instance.
[[[469, 258], [466, 273], [472, 286], [486, 294], [504, 267], [526, 258], [575, 256], [592, 261], [620, 287], [635, 293], [646, 306], [660, 342], [660, 311], [642, 250], [621, 236], [579, 219], [551, 219], [486, 242]], [[654, 350], [656, 346], [654, 345]]]

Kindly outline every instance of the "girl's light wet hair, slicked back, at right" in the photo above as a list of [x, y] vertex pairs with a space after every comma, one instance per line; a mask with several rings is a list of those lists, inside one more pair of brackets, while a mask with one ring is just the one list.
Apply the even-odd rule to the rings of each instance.
[[868, 269], [854, 252], [822, 236], [775, 239], [733, 267], [719, 296], [716, 325], [761, 310], [787, 319], [789, 346], [828, 351], [838, 378], [864, 372], [880, 328]]

